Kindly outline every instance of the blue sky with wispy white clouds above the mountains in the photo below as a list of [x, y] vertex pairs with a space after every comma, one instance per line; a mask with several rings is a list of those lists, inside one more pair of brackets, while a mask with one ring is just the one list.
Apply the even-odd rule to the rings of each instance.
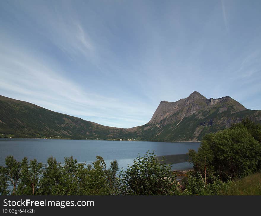
[[261, 1], [0, 1], [0, 95], [106, 126], [198, 91], [261, 110]]

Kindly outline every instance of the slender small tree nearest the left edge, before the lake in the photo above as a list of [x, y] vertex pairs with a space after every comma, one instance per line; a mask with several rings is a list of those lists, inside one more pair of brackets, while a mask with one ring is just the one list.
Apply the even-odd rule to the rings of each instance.
[[13, 156], [7, 156], [5, 158], [5, 164], [7, 165], [7, 180], [13, 187], [13, 195], [15, 195], [16, 185], [20, 178], [20, 162], [14, 159]]

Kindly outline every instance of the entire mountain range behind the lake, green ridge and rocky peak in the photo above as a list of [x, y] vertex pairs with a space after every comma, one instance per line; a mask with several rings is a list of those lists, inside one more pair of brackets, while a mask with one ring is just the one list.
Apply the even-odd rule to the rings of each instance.
[[115, 128], [0, 96], [0, 136], [200, 141], [243, 118], [261, 123], [261, 111], [246, 109], [229, 96], [207, 99], [194, 91], [176, 102], [161, 101], [151, 120], [134, 128]]

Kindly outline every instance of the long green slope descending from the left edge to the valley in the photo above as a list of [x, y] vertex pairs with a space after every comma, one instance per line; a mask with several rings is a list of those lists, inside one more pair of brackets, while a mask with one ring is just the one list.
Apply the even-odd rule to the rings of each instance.
[[125, 130], [0, 96], [0, 136], [105, 139], [120, 137]]

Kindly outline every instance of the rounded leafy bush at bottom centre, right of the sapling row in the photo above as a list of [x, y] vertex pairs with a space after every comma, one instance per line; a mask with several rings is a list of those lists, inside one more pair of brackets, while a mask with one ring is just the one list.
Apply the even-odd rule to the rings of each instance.
[[132, 166], [121, 171], [120, 193], [123, 195], [174, 195], [177, 183], [170, 165], [161, 164], [154, 151], [137, 157]]

